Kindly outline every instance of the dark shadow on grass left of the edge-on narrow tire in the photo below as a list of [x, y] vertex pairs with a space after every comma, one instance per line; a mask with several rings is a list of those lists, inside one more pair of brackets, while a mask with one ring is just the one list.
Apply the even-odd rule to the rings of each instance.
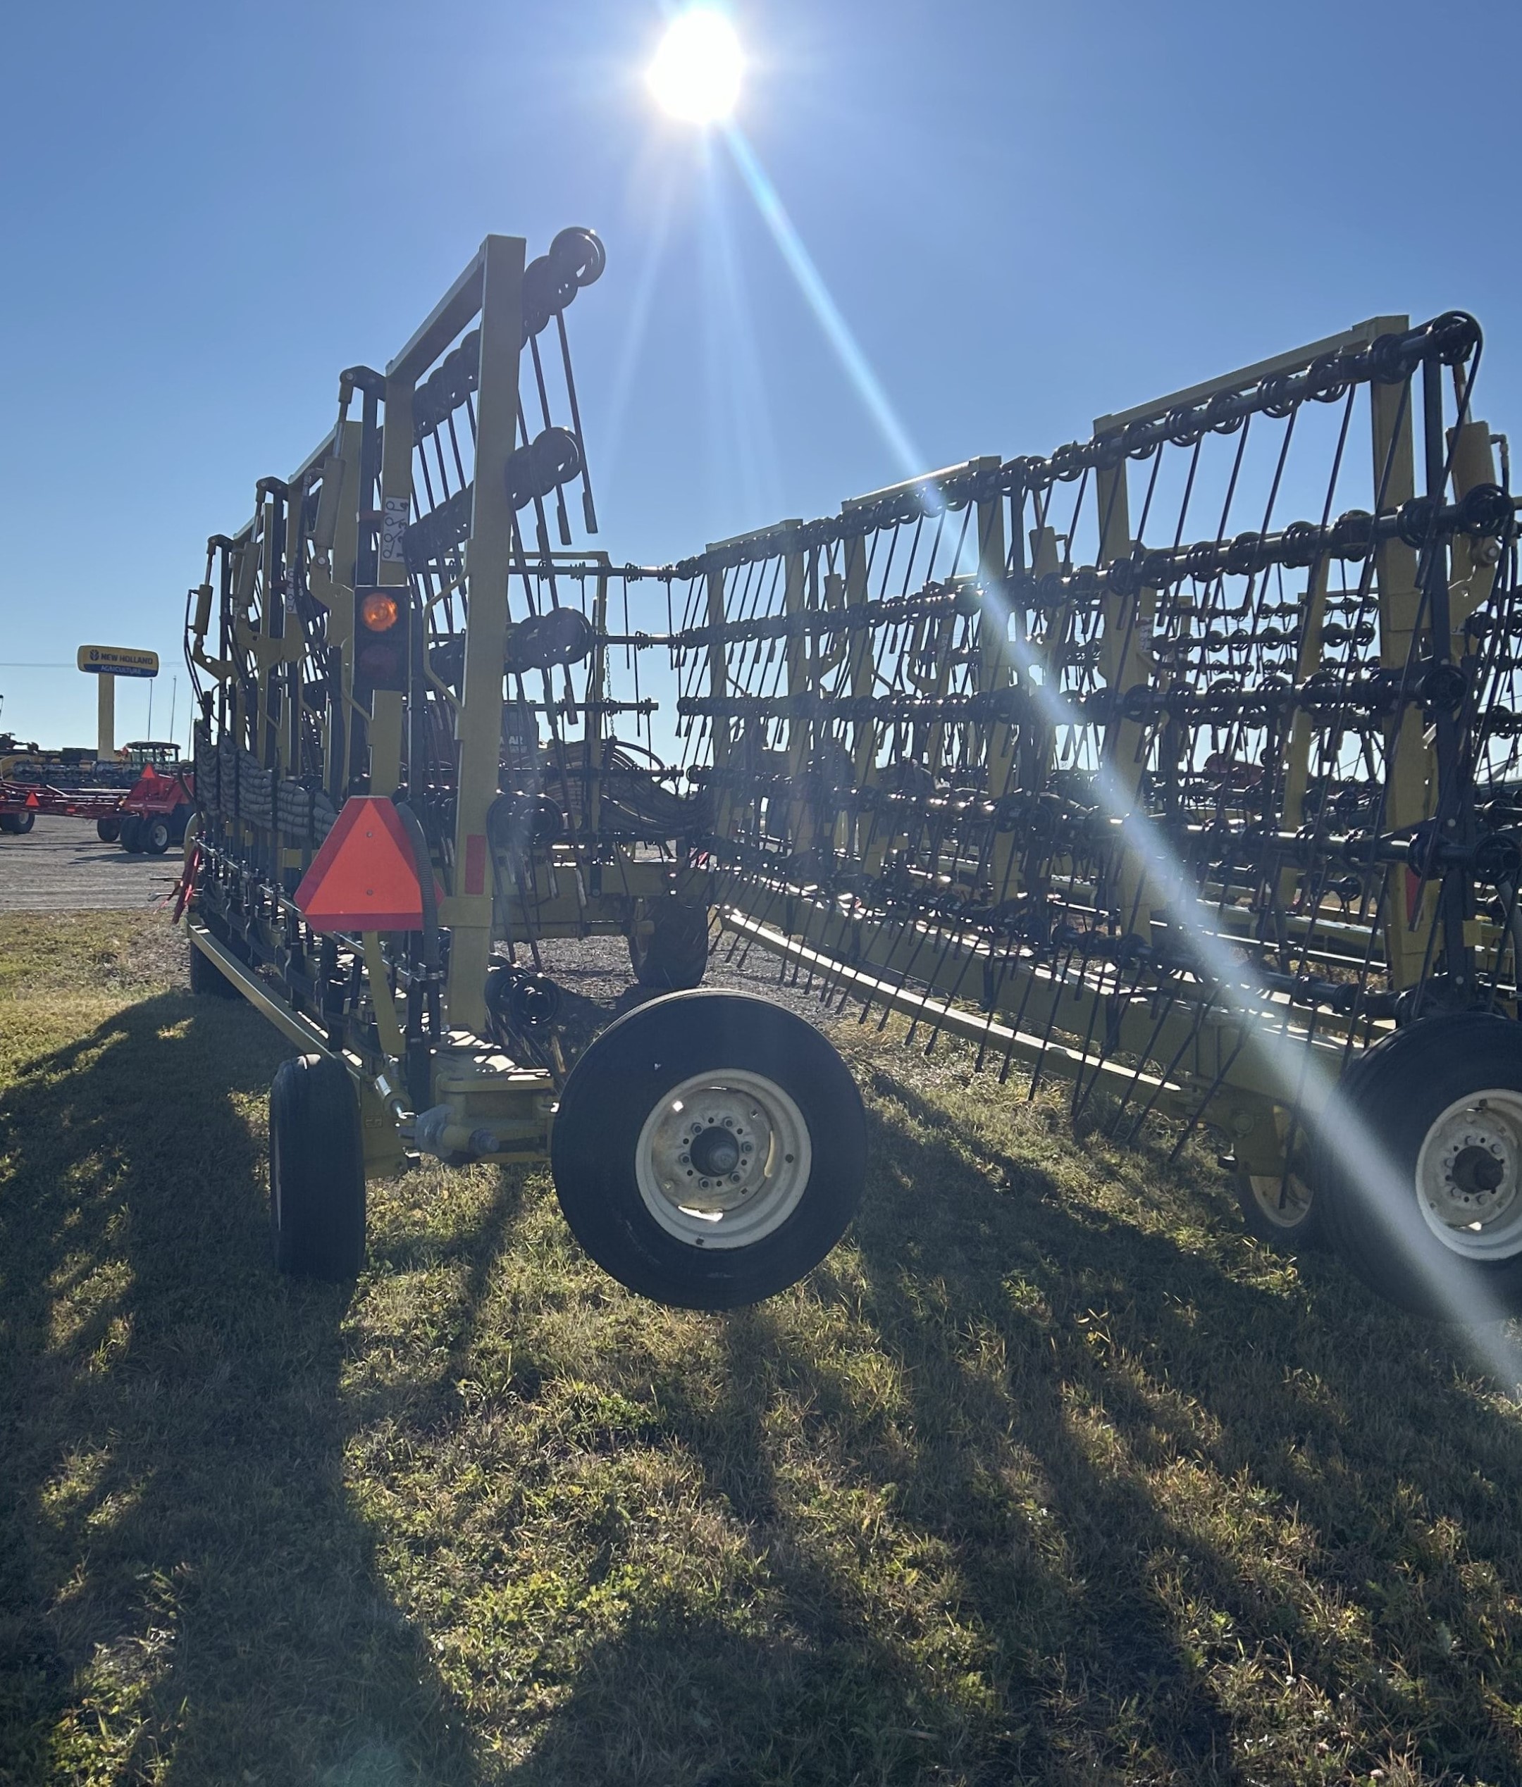
[[279, 1054], [170, 994], [0, 1097], [4, 1782], [479, 1778], [345, 1503], [349, 1292], [268, 1267]]

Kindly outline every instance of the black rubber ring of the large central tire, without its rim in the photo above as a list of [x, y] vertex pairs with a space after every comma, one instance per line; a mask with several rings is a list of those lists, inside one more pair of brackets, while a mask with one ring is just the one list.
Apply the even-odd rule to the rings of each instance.
[[[726, 1067], [787, 1092], [812, 1160], [780, 1228], [748, 1247], [703, 1251], [646, 1208], [635, 1147], [672, 1086]], [[812, 1024], [744, 994], [669, 994], [619, 1019], [578, 1061], [554, 1119], [551, 1167], [565, 1221], [605, 1271], [658, 1303], [726, 1310], [785, 1290], [846, 1231], [866, 1172], [866, 1113], [846, 1063]]]

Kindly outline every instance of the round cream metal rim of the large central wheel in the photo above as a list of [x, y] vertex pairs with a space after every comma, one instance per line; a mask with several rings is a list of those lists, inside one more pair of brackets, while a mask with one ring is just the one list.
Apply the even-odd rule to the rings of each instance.
[[751, 1247], [808, 1187], [808, 1124], [764, 1074], [719, 1067], [672, 1086], [635, 1144], [646, 1210], [689, 1247]]

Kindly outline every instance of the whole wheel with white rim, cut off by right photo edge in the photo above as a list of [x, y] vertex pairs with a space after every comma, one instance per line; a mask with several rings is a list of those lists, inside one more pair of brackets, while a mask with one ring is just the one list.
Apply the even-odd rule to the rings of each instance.
[[1329, 1242], [1438, 1321], [1522, 1313], [1522, 1024], [1424, 1019], [1343, 1074], [1316, 1133]]

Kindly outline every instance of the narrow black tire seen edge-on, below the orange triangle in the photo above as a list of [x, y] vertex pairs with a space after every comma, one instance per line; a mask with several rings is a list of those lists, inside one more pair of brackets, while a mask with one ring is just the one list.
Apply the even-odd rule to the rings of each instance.
[[365, 1263], [359, 1099], [342, 1061], [281, 1061], [270, 1086], [270, 1235], [275, 1269], [340, 1283]]

